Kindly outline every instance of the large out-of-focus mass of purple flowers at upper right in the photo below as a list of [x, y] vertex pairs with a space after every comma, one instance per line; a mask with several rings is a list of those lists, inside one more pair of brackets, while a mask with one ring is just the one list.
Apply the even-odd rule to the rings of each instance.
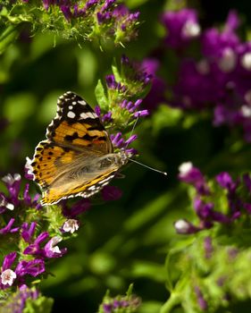
[[[230, 11], [222, 30], [201, 30], [197, 11], [188, 8], [163, 13], [162, 22], [164, 49], [172, 48], [180, 64], [165, 102], [182, 110], [213, 109], [214, 126], [240, 127], [251, 142], [251, 44], [238, 36], [237, 13]], [[192, 49], [191, 41], [197, 43]]]

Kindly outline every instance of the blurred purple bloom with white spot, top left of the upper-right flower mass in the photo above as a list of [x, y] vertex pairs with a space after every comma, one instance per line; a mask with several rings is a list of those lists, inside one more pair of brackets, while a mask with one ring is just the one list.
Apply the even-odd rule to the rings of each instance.
[[162, 22], [167, 31], [165, 44], [174, 49], [185, 47], [192, 38], [197, 38], [200, 34], [197, 12], [193, 9], [163, 13]]

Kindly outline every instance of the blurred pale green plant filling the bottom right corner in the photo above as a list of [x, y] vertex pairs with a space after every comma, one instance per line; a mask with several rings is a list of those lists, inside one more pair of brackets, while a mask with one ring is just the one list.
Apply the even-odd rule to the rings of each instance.
[[[167, 258], [169, 290], [171, 296], [161, 312], [172, 312], [178, 305], [184, 312], [215, 312], [227, 308], [230, 303], [250, 299], [250, 253], [238, 239], [238, 226], [232, 225], [226, 238], [215, 226], [212, 231], [197, 234], [181, 249], [173, 244]], [[208, 255], [205, 240], [212, 239], [212, 251]], [[196, 290], [205, 300], [199, 306]]]

